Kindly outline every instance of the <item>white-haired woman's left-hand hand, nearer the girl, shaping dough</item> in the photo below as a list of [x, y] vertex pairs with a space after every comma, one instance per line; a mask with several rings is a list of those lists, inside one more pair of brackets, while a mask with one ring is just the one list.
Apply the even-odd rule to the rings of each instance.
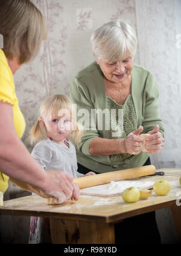
[[124, 148], [125, 154], [137, 155], [141, 152], [141, 144], [143, 142], [143, 138], [139, 136], [143, 131], [143, 127], [140, 125], [137, 130], [129, 133], [129, 135], [124, 139]]

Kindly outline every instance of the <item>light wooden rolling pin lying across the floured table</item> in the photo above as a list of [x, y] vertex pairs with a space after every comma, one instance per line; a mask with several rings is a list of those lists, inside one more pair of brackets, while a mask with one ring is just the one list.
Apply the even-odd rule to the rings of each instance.
[[124, 169], [121, 171], [105, 172], [97, 175], [83, 176], [74, 179], [79, 188], [88, 188], [89, 186], [97, 186], [101, 184], [110, 183], [112, 181], [118, 182], [119, 180], [127, 180], [136, 177], [147, 176], [154, 174], [156, 168], [154, 165], [145, 165], [131, 169]]

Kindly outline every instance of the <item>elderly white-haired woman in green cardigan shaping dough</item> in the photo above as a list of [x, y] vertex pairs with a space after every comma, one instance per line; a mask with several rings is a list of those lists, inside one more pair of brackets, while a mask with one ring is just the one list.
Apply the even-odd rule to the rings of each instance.
[[[149, 165], [149, 153], [164, 147], [164, 126], [156, 80], [134, 63], [135, 30], [125, 21], [108, 22], [94, 31], [91, 43], [95, 62], [79, 71], [71, 85], [71, 99], [86, 129], [77, 146], [78, 171]], [[147, 152], [141, 151], [141, 133], [150, 134]]]

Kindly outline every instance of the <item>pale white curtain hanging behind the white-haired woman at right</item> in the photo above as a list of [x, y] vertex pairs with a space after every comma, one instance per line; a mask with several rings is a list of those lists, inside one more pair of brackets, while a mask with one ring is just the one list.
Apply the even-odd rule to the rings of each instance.
[[156, 168], [180, 168], [181, 1], [136, 0], [135, 7], [139, 61], [156, 76], [165, 126], [164, 150], [151, 155], [151, 162]]

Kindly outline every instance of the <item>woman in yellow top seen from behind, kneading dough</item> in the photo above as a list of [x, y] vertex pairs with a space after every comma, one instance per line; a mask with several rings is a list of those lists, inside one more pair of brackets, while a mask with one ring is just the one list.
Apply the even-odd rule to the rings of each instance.
[[30, 0], [0, 0], [0, 34], [4, 40], [0, 49], [0, 192], [5, 192], [10, 177], [22, 188], [43, 197], [57, 197], [60, 203], [78, 200], [78, 186], [63, 171], [45, 172], [21, 142], [25, 120], [13, 82], [16, 70], [36, 56], [46, 33], [42, 13]]

